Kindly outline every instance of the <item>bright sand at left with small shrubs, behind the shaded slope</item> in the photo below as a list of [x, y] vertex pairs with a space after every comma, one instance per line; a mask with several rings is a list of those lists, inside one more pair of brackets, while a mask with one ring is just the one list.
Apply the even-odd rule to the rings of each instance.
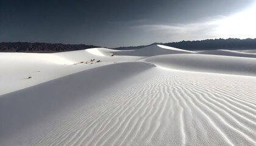
[[[0, 53], [0, 95], [86, 69], [142, 58], [132, 56], [106, 57], [94, 54], [86, 50], [54, 54]], [[97, 61], [100, 62], [96, 63]], [[27, 80], [28, 77], [32, 77], [32, 80]]]

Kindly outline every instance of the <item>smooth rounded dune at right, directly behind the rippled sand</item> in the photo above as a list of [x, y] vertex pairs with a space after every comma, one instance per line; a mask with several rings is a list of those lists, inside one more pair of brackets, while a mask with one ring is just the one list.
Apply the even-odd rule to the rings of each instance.
[[256, 76], [256, 59], [222, 55], [172, 54], [143, 59], [158, 66], [182, 71]]

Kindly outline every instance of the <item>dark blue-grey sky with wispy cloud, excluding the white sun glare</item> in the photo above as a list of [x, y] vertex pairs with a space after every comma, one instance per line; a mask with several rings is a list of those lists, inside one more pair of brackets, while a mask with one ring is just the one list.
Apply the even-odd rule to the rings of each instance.
[[215, 21], [224, 22], [254, 4], [254, 0], [0, 0], [0, 42], [118, 47], [218, 38], [222, 35], [213, 30], [219, 25]]

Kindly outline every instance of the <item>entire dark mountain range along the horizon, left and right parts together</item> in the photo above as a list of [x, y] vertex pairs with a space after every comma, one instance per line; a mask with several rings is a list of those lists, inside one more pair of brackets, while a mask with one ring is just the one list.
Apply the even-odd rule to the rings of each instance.
[[[213, 49], [256, 49], [256, 38], [240, 40], [238, 38], [215, 39], [202, 41], [180, 41], [174, 43], [153, 43], [177, 47], [186, 50], [213, 50]], [[151, 46], [152, 44], [146, 45]], [[140, 49], [146, 46], [116, 47], [113, 49], [127, 50]], [[86, 44], [50, 44], [50, 43], [0, 43], [0, 52], [64, 52], [70, 50], [82, 50], [92, 47], [99, 47]]]

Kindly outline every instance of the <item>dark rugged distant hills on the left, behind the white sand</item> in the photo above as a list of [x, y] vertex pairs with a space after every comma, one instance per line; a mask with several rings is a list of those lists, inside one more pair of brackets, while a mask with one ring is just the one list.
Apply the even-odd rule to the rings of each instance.
[[50, 44], [50, 43], [0, 43], [0, 52], [64, 52], [98, 47], [85, 44]]

